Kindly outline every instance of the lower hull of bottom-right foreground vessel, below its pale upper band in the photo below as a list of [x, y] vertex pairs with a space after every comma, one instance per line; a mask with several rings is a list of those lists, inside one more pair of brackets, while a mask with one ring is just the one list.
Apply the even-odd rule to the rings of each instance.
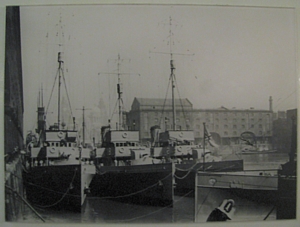
[[275, 220], [276, 191], [250, 189], [224, 189], [198, 187], [195, 196], [195, 222], [206, 222], [211, 212], [225, 199], [235, 203], [235, 213], [230, 222]]

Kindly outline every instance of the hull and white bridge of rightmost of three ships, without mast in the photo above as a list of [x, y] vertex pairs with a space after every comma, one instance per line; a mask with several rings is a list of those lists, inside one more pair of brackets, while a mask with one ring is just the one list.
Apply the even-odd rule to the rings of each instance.
[[170, 130], [159, 133], [158, 130], [157, 127], [152, 128], [154, 143], [151, 154], [155, 158], [175, 163], [175, 193], [194, 190], [199, 170], [231, 172], [242, 171], [244, 168], [242, 159], [223, 161], [222, 157], [213, 155], [205, 146], [194, 144], [193, 131]]

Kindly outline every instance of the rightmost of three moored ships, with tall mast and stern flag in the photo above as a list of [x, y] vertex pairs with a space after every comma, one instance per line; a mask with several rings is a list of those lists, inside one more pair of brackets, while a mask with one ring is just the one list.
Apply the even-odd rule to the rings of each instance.
[[[170, 26], [172, 26], [172, 19], [170, 17]], [[177, 111], [175, 100], [175, 85], [177, 85], [175, 78], [175, 64], [173, 55], [178, 53], [172, 52], [172, 35], [170, 32], [170, 77], [169, 84], [171, 85], [172, 93], [172, 128], [168, 130], [166, 126], [164, 132], [160, 132], [160, 125], [151, 127], [151, 156], [165, 160], [166, 162], [175, 163], [175, 192], [186, 192], [194, 190], [195, 177], [198, 170], [209, 171], [241, 171], [244, 168], [243, 160], [226, 160], [222, 161], [221, 156], [215, 156], [208, 149], [205, 149], [205, 143], [210, 143], [212, 146], [211, 136], [207, 131], [204, 123], [203, 146], [195, 144], [194, 132], [182, 130], [181, 126], [177, 125]], [[158, 52], [161, 53], [161, 52]], [[179, 54], [182, 55], [182, 54]], [[182, 107], [182, 115], [185, 118], [185, 110]], [[166, 103], [166, 100], [165, 100]], [[164, 107], [163, 107], [164, 111]], [[162, 114], [163, 114], [162, 111]], [[184, 119], [187, 122], [188, 119]]]

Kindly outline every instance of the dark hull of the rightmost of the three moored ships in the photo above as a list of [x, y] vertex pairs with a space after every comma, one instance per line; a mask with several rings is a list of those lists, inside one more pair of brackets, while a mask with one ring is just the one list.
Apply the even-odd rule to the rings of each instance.
[[210, 172], [220, 171], [242, 171], [243, 160], [219, 161], [195, 163], [193, 161], [175, 165], [175, 194], [182, 194], [195, 189], [195, 178], [197, 171], [208, 170]]

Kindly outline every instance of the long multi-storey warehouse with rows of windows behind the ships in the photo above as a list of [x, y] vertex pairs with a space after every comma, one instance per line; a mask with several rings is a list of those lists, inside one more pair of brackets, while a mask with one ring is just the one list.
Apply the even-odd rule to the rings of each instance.
[[[164, 105], [165, 104], [165, 105]], [[252, 132], [257, 144], [270, 146], [273, 131], [272, 98], [268, 110], [249, 109], [193, 109], [188, 99], [176, 99], [177, 130], [193, 130], [196, 143], [203, 139], [203, 122], [213, 138], [221, 145], [238, 145], [243, 132]], [[140, 131], [142, 141], [150, 140], [150, 127], [172, 129], [172, 103], [170, 99], [135, 98], [127, 113], [127, 125]]]

